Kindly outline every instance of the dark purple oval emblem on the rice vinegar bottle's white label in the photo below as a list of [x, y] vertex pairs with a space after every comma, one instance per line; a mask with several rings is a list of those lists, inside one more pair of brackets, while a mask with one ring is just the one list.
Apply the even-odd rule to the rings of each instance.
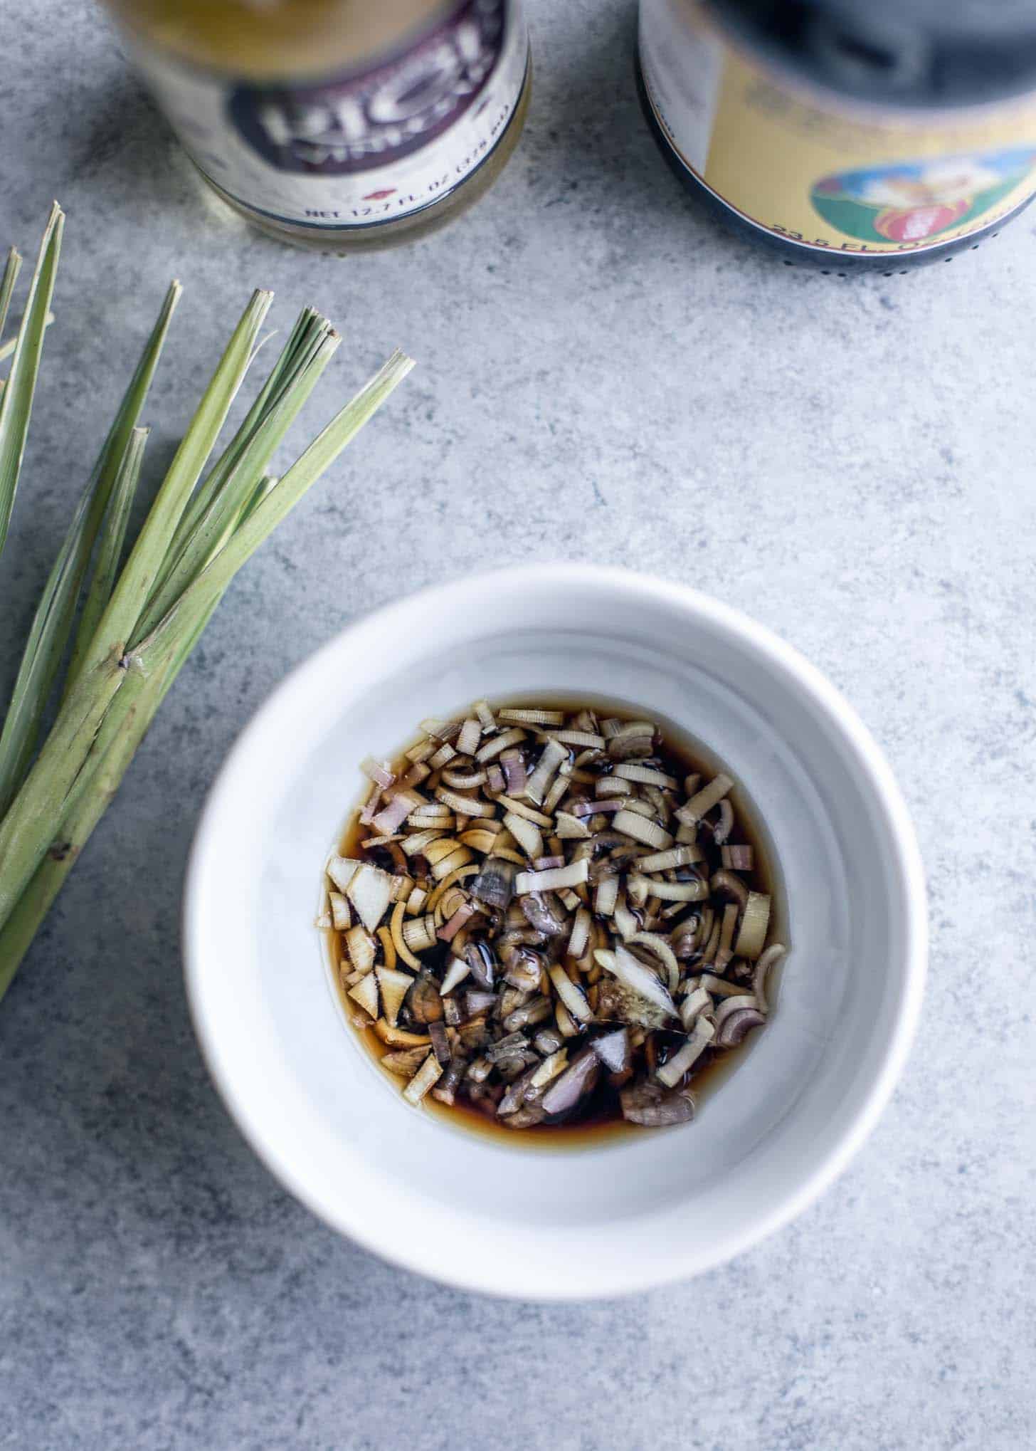
[[308, 87], [237, 87], [231, 120], [279, 171], [337, 177], [387, 165], [476, 104], [499, 61], [505, 20], [506, 0], [469, 0], [376, 70]]

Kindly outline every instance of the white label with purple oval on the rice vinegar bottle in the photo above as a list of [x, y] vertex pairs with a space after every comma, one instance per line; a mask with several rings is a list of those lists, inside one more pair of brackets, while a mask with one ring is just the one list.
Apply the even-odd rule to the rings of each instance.
[[341, 231], [419, 212], [476, 170], [521, 97], [528, 36], [518, 0], [461, 0], [414, 45], [312, 84], [234, 83], [142, 48], [135, 59], [219, 192]]

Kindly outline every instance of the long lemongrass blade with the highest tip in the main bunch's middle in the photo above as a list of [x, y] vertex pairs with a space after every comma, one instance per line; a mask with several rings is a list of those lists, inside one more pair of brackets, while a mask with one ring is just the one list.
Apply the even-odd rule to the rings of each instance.
[[271, 300], [273, 293], [252, 293], [252, 299], [245, 308], [177, 448], [155, 502], [151, 505], [93, 640], [83, 653], [81, 669], [84, 672], [93, 670], [112, 651], [116, 651], [118, 656], [125, 653], [126, 641], [132, 637], [141, 611], [161, 573], [165, 551], [187, 499], [205, 469], [245, 376], [252, 355], [252, 344]]

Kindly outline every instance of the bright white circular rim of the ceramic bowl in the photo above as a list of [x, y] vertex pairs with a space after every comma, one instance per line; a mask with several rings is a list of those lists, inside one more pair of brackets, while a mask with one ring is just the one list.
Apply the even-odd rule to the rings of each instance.
[[354, 1213], [351, 1203], [342, 1203], [338, 1213], [331, 1213], [303, 1178], [293, 1172], [290, 1164], [266, 1142], [261, 1126], [250, 1113], [247, 1096], [238, 1091], [232, 1066], [225, 1061], [219, 1043], [219, 1029], [206, 1013], [202, 982], [206, 971], [205, 920], [197, 884], [209, 871], [219, 818], [225, 810], [232, 807], [232, 778], [238, 763], [247, 759], [252, 746], [270, 728], [280, 702], [292, 696], [300, 685], [305, 686], [311, 678], [321, 678], [331, 659], [341, 651], [361, 649], [367, 631], [383, 630], [386, 625], [389, 628], [402, 625], [414, 611], [438, 614], [438, 611], [448, 608], [454, 599], [467, 598], [470, 604], [470, 599], [480, 592], [501, 586], [531, 592], [559, 583], [598, 591], [604, 586], [617, 599], [625, 596], [663, 605], [685, 618], [708, 621], [720, 630], [730, 631], [765, 654], [770, 666], [789, 678], [791, 683], [808, 701], [810, 708], [824, 717], [827, 724], [836, 730], [840, 743], [855, 755], [863, 778], [860, 788], [869, 791], [894, 846], [894, 858], [888, 865], [898, 879], [904, 901], [903, 985], [895, 1006], [892, 1030], [884, 1043], [871, 1081], [859, 1093], [858, 1104], [847, 1110], [849, 1122], [840, 1138], [813, 1164], [794, 1190], [760, 1206], [739, 1233], [727, 1238], [712, 1252], [708, 1246], [695, 1246], [695, 1251], [685, 1254], [682, 1259], [675, 1258], [672, 1273], [662, 1275], [638, 1275], [636, 1267], [633, 1271], [628, 1267], [618, 1271], [615, 1265], [618, 1273], [602, 1277], [601, 1283], [557, 1286], [534, 1296], [538, 1300], [586, 1300], [636, 1293], [701, 1274], [730, 1261], [801, 1214], [830, 1187], [862, 1148], [891, 1098], [910, 1053], [920, 1019], [927, 972], [927, 892], [914, 824], [892, 769], [876, 740], [842, 692], [805, 656], [768, 625], [701, 591], [614, 566], [538, 563], [479, 570], [427, 586], [402, 599], [377, 607], [350, 621], [325, 644], [296, 665], [267, 695], [231, 746], [209, 788], [190, 846], [183, 892], [181, 942], [187, 1006], [202, 1058], [231, 1119], [274, 1178], [329, 1228], [390, 1264], [463, 1290], [530, 1299], [528, 1291], [522, 1291], [509, 1281], [503, 1267], [498, 1278], [492, 1273], [480, 1273], [470, 1267], [463, 1267], [459, 1273], [444, 1274], [441, 1264], [432, 1264], [428, 1257], [422, 1255], [421, 1236], [415, 1236], [416, 1248], [414, 1251], [409, 1245], [399, 1248], [379, 1235], [379, 1226], [373, 1216], [364, 1217], [361, 1210]]

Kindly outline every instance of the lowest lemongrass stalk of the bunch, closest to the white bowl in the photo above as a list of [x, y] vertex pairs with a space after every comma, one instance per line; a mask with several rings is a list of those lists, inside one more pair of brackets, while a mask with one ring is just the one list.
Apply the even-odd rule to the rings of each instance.
[[[212, 607], [213, 611], [215, 608], [216, 605]], [[119, 721], [119, 728], [104, 734], [103, 741], [99, 737], [100, 750], [91, 755], [84, 768], [86, 781], [77, 804], [57, 823], [44, 859], [26, 884], [7, 921], [0, 927], [0, 998], [10, 987], [32, 939], [78, 860], [83, 847], [90, 840], [93, 829], [110, 805], [136, 747], [144, 740], [158, 707], [207, 622], [209, 617], [206, 615], [194, 634], [184, 643], [178, 657], [170, 662], [161, 676], [149, 682], [149, 688], [142, 692], [135, 710]]]

